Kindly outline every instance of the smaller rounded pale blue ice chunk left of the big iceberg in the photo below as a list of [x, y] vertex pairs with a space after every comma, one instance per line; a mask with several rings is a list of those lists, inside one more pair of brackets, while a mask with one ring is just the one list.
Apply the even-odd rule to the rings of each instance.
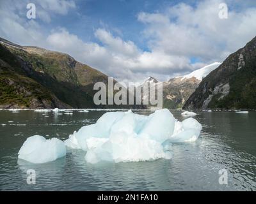
[[46, 140], [43, 136], [34, 135], [23, 143], [19, 150], [19, 159], [30, 163], [47, 163], [66, 155], [65, 144], [57, 139]]

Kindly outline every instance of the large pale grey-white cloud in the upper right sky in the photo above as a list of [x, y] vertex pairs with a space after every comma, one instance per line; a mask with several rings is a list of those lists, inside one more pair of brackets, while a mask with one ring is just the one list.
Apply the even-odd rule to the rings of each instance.
[[204, 62], [223, 60], [255, 36], [256, 8], [230, 10], [228, 18], [221, 19], [220, 3], [200, 1], [195, 7], [180, 3], [163, 13], [141, 12], [138, 20], [147, 25], [144, 34], [152, 50]]

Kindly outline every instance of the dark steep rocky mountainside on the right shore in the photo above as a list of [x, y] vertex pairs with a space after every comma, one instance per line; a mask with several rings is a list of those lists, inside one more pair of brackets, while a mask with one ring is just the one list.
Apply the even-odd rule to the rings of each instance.
[[183, 108], [255, 109], [256, 37], [207, 75]]

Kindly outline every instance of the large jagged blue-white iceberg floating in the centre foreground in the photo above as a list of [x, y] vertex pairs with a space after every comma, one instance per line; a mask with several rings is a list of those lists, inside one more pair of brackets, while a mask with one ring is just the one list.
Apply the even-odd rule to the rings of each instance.
[[128, 112], [108, 112], [95, 124], [84, 126], [65, 140], [71, 149], [86, 151], [88, 163], [170, 159], [173, 142], [193, 142], [201, 124], [193, 119], [176, 120], [167, 109], [146, 116]]

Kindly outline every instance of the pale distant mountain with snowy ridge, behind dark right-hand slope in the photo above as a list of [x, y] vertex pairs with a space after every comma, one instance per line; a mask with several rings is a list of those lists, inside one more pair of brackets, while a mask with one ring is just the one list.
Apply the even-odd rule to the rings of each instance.
[[202, 78], [220, 66], [220, 64], [220, 62], [214, 62], [203, 68], [196, 69], [188, 75], [171, 78], [168, 82], [163, 82], [164, 108], [182, 108], [189, 96], [195, 92]]

